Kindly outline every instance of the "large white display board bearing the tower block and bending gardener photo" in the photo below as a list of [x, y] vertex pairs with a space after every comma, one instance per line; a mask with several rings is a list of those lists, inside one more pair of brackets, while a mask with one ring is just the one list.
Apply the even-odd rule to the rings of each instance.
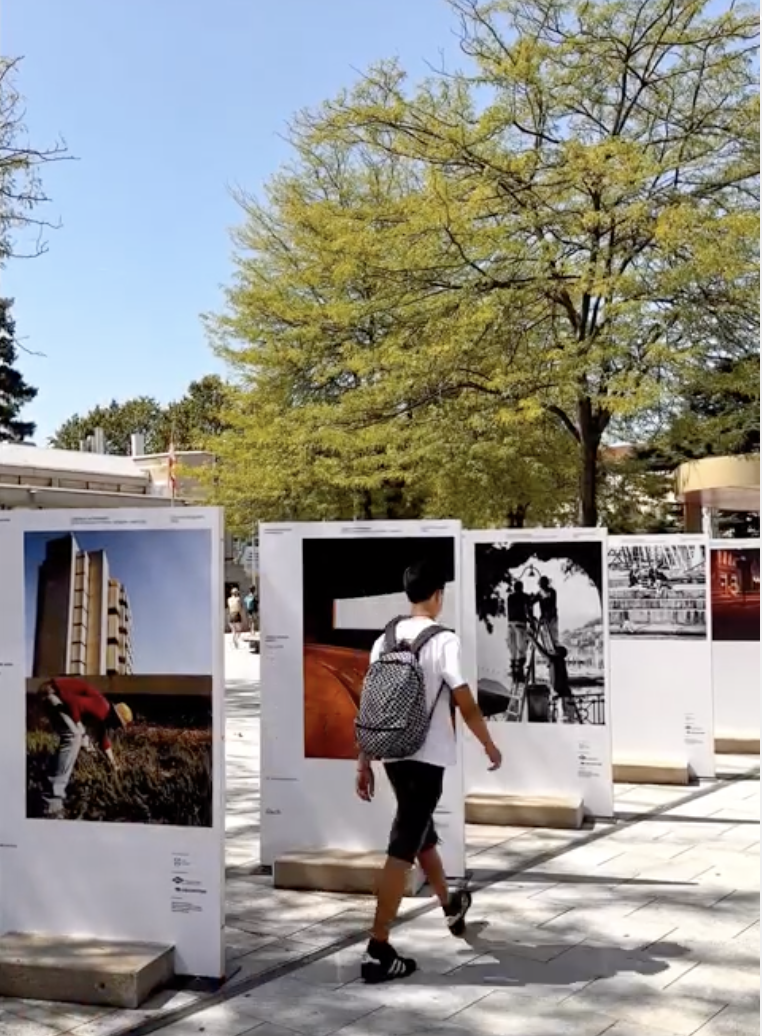
[[221, 513], [5, 512], [0, 558], [0, 932], [222, 977]]

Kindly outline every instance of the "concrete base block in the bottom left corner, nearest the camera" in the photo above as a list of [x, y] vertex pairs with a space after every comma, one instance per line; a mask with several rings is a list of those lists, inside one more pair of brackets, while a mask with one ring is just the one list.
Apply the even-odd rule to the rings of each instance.
[[140, 1007], [174, 976], [175, 951], [150, 943], [112, 943], [9, 932], [0, 936], [0, 997]]

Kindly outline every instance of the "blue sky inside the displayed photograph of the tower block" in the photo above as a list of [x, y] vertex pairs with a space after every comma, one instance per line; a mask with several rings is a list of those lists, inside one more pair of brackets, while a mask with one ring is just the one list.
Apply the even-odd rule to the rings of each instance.
[[[24, 537], [27, 673], [32, 671], [37, 572], [47, 542], [65, 535], [27, 533]], [[142, 675], [210, 674], [211, 534], [141, 529], [75, 535], [82, 550], [105, 550], [111, 576], [124, 584], [133, 610], [135, 671]]]

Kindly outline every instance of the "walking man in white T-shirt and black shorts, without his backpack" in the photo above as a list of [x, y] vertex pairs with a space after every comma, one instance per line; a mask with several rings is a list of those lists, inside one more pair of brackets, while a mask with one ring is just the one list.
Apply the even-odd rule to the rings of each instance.
[[[398, 643], [413, 644], [427, 629], [436, 627], [444, 601], [444, 579], [426, 563], [405, 572], [405, 593], [411, 604], [410, 616], [400, 620], [394, 629]], [[372, 664], [386, 650], [386, 636], [379, 637], [371, 653]], [[439, 841], [434, 826], [434, 811], [442, 795], [444, 771], [456, 765], [456, 727], [453, 707], [481, 743], [497, 770], [502, 759], [485, 719], [461, 669], [461, 644], [455, 633], [439, 629], [421, 646], [418, 663], [426, 684], [429, 722], [421, 747], [408, 758], [384, 764], [397, 799], [397, 815], [389, 836], [387, 859], [381, 873], [376, 916], [361, 966], [365, 982], [384, 982], [406, 978], [416, 963], [401, 957], [389, 943], [389, 930], [405, 892], [408, 871], [417, 861], [430, 887], [442, 904], [446, 923], [453, 936], [465, 931], [465, 918], [471, 895], [465, 890], [450, 892], [437, 850]], [[356, 789], [370, 802], [375, 790], [372, 762], [362, 753], [358, 760]]]

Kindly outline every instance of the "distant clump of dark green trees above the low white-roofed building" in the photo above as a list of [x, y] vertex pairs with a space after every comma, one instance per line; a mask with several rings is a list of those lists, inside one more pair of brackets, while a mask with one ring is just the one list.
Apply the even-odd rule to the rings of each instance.
[[130, 435], [140, 432], [145, 437], [146, 453], [166, 453], [170, 443], [177, 450], [202, 450], [210, 436], [225, 428], [223, 411], [227, 386], [215, 374], [192, 381], [185, 395], [174, 403], [162, 406], [150, 396], [108, 406], [96, 406], [86, 414], [74, 414], [52, 436], [52, 447], [79, 450], [80, 442], [100, 428], [106, 438], [106, 452], [126, 455]]

